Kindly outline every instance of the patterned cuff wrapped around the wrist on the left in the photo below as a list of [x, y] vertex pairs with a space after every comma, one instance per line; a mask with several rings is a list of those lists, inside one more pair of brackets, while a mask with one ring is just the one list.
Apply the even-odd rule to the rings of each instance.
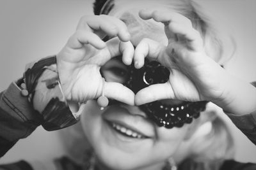
[[62, 92], [56, 57], [47, 57], [30, 64], [24, 73], [29, 101], [42, 117], [42, 126], [48, 130], [75, 124], [78, 117], [70, 111]]

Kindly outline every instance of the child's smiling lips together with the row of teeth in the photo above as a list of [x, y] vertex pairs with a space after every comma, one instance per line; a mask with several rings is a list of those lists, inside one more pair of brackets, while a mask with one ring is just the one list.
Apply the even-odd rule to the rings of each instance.
[[152, 122], [141, 115], [130, 113], [123, 106], [109, 106], [102, 117], [114, 131], [129, 138], [147, 139], [156, 136]]

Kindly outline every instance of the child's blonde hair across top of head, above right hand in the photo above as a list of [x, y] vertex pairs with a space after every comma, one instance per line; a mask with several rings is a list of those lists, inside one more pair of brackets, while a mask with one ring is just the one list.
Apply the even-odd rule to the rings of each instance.
[[[144, 0], [130, 0], [129, 3], [126, 0], [118, 0], [115, 1], [115, 5], [112, 4], [111, 11], [108, 14], [120, 18], [124, 11], [152, 8], [152, 6], [154, 6], [153, 9], [165, 8], [189, 18], [193, 27], [200, 32], [204, 40], [207, 55], [221, 65], [230, 59], [231, 56], [223, 55], [223, 41], [220, 38], [220, 32], [214, 28], [211, 20], [206, 17], [200, 6], [192, 0], [147, 0], [147, 4]], [[147, 25], [146, 22], [145, 25]]]

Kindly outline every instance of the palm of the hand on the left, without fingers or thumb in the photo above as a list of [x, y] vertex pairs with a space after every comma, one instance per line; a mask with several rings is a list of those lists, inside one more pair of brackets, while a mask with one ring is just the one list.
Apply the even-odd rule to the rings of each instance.
[[99, 72], [102, 63], [96, 61], [100, 57], [104, 59], [108, 56], [100, 56], [100, 50], [89, 48], [89, 45], [71, 50], [72, 57], [69, 53], [61, 51], [59, 55], [62, 57], [58, 60], [60, 66], [58, 71], [65, 96], [72, 101], [86, 101], [99, 97], [100, 92], [97, 92], [99, 89], [95, 87], [102, 85]]

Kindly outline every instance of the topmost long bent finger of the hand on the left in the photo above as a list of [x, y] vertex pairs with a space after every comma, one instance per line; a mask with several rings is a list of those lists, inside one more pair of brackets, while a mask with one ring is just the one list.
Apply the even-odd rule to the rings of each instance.
[[[118, 36], [122, 41], [129, 41], [131, 38], [128, 29], [122, 20], [108, 15], [85, 16], [81, 19], [78, 29], [90, 29], [95, 31], [98, 36], [103, 31], [108, 36]], [[101, 32], [102, 34], [102, 32]]]

